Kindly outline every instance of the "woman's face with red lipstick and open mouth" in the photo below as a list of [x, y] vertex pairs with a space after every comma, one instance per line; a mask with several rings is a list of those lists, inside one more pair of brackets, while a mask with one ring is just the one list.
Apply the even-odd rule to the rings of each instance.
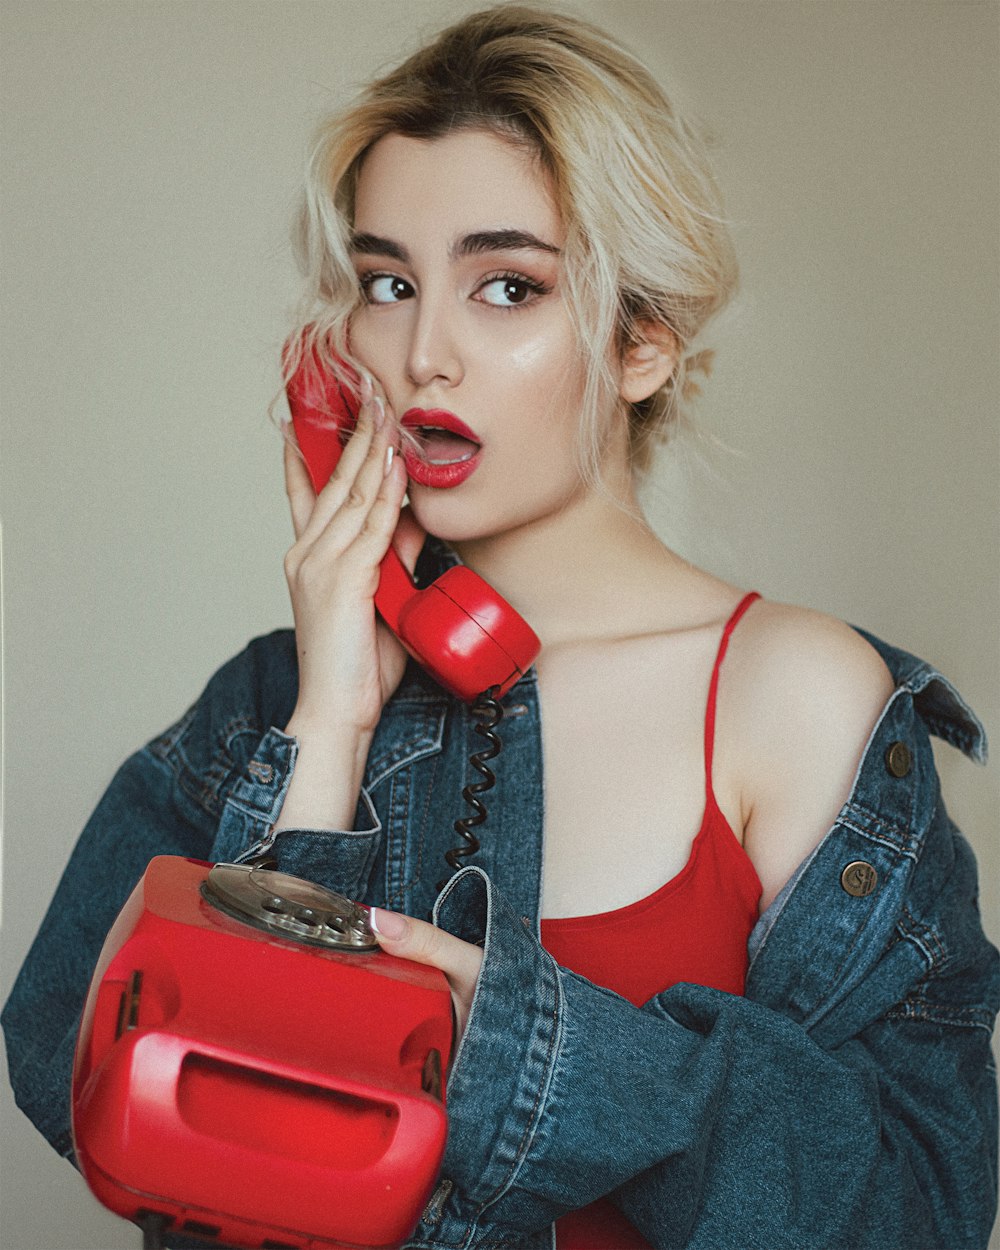
[[388, 135], [361, 168], [351, 351], [416, 435], [410, 500], [440, 538], [514, 530], [586, 494], [564, 238], [544, 172], [486, 131]]

